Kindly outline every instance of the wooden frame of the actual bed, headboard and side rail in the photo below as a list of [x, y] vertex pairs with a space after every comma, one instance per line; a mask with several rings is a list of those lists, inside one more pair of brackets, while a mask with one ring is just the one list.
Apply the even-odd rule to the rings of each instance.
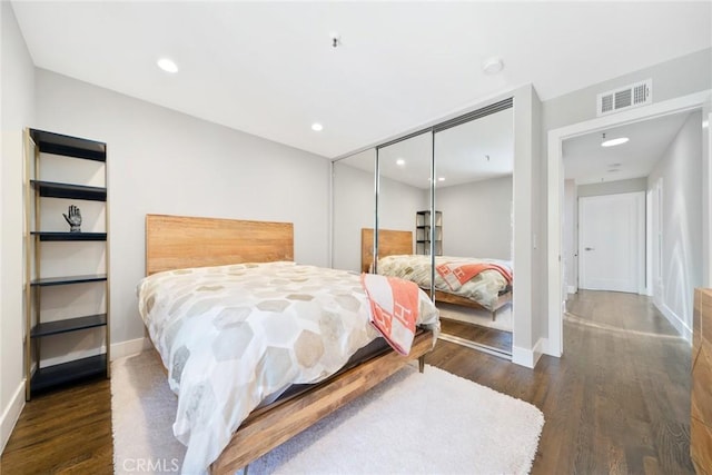
[[[290, 222], [181, 216], [146, 216], [146, 274], [186, 267], [294, 260]], [[423, 372], [433, 334], [419, 331], [407, 357], [387, 349], [329, 379], [254, 410], [210, 466], [235, 473], [281, 443], [357, 398], [411, 360]]]

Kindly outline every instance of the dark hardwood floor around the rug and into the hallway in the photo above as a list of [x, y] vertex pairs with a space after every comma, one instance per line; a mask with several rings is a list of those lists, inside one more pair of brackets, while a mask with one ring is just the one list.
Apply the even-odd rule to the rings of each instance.
[[[564, 356], [535, 369], [438, 342], [427, 363], [536, 405], [546, 423], [533, 474], [692, 474], [690, 354], [645, 297], [582, 291]], [[110, 474], [107, 380], [28, 403], [2, 474]]]

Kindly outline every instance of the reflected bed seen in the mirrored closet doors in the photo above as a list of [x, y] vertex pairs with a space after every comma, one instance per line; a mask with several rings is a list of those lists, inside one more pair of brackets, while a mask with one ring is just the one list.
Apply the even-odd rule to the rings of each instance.
[[[374, 263], [374, 230], [362, 229], [362, 271], [369, 271]], [[435, 265], [447, 266], [453, 263], [481, 264], [491, 263], [495, 267], [508, 270], [510, 279], [503, 278], [497, 270], [481, 274], [478, 283], [467, 283], [453, 290], [437, 271], [435, 273], [435, 300], [461, 305], [468, 308], [483, 309], [496, 318], [497, 311], [512, 303], [511, 266], [497, 259], [463, 258], [436, 256]], [[392, 229], [378, 230], [378, 274], [406, 278], [431, 291], [431, 256], [413, 254], [413, 232]], [[505, 271], [506, 273], [506, 271]]]

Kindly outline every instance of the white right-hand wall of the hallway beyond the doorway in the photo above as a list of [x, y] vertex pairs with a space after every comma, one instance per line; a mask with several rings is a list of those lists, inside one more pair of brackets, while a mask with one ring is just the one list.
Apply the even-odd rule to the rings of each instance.
[[688, 117], [650, 174], [649, 188], [662, 178], [662, 281], [653, 300], [691, 340], [694, 288], [702, 286], [702, 112]]

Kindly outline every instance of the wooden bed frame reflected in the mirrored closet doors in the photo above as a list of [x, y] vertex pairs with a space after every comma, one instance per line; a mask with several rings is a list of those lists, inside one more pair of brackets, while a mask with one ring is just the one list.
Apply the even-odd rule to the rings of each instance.
[[[413, 231], [378, 229], [378, 257], [396, 256], [399, 254], [413, 254]], [[370, 228], [362, 228], [360, 230], [360, 260], [362, 271], [367, 273], [374, 261], [374, 230]], [[426, 288], [424, 290], [429, 295], [431, 289]], [[512, 289], [500, 294], [493, 310], [483, 307], [469, 298], [442, 290], [435, 290], [435, 301], [445, 301], [447, 304], [491, 311], [492, 321], [494, 321], [497, 316], [497, 310], [512, 301]]]

